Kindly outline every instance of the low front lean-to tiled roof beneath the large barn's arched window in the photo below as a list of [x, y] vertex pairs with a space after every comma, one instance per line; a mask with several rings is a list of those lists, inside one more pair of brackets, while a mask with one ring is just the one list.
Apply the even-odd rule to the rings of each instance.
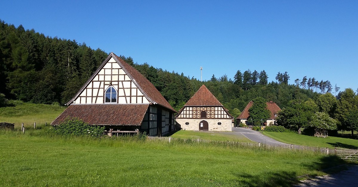
[[68, 116], [90, 125], [141, 125], [149, 104], [70, 105], [51, 125], [58, 125]]

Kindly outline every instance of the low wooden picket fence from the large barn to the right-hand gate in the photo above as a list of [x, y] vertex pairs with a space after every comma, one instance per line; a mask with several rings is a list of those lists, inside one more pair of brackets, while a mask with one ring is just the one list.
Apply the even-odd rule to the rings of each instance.
[[[158, 137], [158, 136], [147, 136], [148, 140], [161, 140], [161, 141], [175, 141], [180, 138], [171, 138], [171, 137]], [[202, 139], [182, 139], [188, 142], [217, 142], [213, 140], [202, 140]], [[347, 159], [350, 161], [358, 162], [358, 150], [355, 149], [342, 149], [342, 148], [321, 148], [321, 147], [310, 147], [304, 145], [294, 145], [294, 144], [281, 144], [281, 145], [267, 145], [263, 143], [246, 143], [246, 142], [223, 142], [227, 145], [240, 145], [242, 147], [263, 147], [269, 150], [279, 150], [279, 149], [289, 149], [289, 150], [307, 150], [315, 153], [321, 154], [336, 154], [338, 157]]]

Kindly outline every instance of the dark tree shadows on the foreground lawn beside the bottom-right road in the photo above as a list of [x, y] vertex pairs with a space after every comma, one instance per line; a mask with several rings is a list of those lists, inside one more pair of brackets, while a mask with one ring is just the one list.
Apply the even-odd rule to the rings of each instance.
[[[329, 155], [322, 157], [318, 162], [313, 162], [311, 164], [303, 164], [304, 167], [310, 172], [325, 172], [328, 174], [335, 173], [340, 171], [339, 169], [330, 169], [335, 166], [341, 166], [346, 162], [342, 159], [339, 159], [335, 155]], [[302, 166], [302, 165], [301, 165]], [[342, 168], [340, 168], [342, 169]], [[257, 175], [251, 175], [246, 173], [233, 173], [237, 177], [236, 183], [238, 186], [245, 187], [291, 187], [293, 184], [300, 183], [299, 176], [294, 171], [274, 171], [274, 172], [260, 172]], [[314, 175], [308, 176], [314, 177]]]

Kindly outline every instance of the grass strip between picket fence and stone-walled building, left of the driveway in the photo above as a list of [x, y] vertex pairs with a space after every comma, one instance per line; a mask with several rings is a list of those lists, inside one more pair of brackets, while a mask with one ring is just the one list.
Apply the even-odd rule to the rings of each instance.
[[231, 142], [252, 142], [243, 135], [234, 134], [233, 132], [214, 132], [214, 131], [190, 131], [180, 130], [171, 135], [173, 138], [183, 139], [203, 139], [216, 141], [231, 141]]

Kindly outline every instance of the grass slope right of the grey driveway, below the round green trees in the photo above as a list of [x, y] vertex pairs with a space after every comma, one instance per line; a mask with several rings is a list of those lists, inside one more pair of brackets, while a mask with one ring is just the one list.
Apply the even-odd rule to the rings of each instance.
[[349, 138], [339, 138], [334, 136], [328, 136], [326, 138], [318, 138], [314, 136], [306, 136], [295, 133], [275, 133], [263, 131], [263, 134], [269, 136], [277, 141], [296, 144], [296, 145], [307, 145], [313, 147], [341, 147], [349, 149], [358, 148], [358, 140]]

